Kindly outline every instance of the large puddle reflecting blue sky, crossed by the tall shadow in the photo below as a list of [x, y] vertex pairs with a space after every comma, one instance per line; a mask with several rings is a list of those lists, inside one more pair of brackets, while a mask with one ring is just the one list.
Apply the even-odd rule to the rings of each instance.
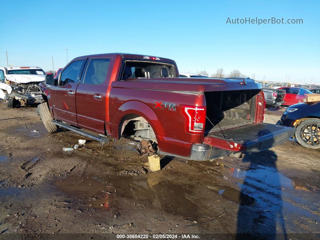
[[231, 175], [243, 180], [238, 186], [242, 192], [256, 199], [257, 204], [253, 208], [264, 211], [266, 221], [273, 221], [282, 212], [287, 216], [319, 219], [313, 213], [318, 211], [319, 183], [303, 178], [288, 178], [279, 173], [276, 166], [258, 164], [251, 164], [249, 169], [235, 169]]

